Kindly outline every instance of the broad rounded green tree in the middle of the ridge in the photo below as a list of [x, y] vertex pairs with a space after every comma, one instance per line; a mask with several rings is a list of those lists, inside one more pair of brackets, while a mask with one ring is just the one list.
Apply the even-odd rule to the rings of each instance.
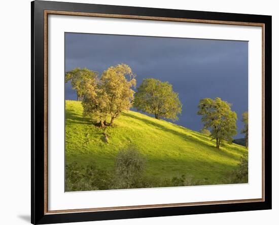
[[178, 93], [173, 92], [172, 85], [156, 79], [144, 79], [135, 93], [133, 106], [137, 110], [154, 114], [155, 118], [178, 120], [181, 114], [182, 104]]

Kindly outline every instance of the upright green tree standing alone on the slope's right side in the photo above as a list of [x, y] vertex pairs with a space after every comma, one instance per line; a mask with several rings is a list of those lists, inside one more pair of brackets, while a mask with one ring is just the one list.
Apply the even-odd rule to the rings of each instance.
[[221, 98], [204, 98], [199, 101], [197, 114], [202, 116], [203, 129], [211, 128], [210, 136], [216, 139], [217, 148], [223, 140], [231, 143], [232, 137], [237, 133], [237, 116], [230, 106], [230, 103], [222, 101]]

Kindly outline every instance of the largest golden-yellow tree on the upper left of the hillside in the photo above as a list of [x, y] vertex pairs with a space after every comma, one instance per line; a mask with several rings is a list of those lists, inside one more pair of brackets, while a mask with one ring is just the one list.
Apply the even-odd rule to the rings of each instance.
[[99, 80], [88, 80], [83, 99], [84, 116], [91, 116], [101, 127], [112, 125], [123, 110], [131, 107], [135, 87], [135, 74], [126, 64], [111, 66], [103, 71]]

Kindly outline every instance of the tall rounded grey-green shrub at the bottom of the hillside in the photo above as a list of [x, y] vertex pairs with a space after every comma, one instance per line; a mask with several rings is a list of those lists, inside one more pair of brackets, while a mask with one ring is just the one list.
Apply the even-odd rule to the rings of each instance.
[[130, 145], [128, 148], [119, 151], [115, 161], [113, 188], [130, 189], [143, 186], [141, 180], [144, 166], [145, 160], [135, 146]]

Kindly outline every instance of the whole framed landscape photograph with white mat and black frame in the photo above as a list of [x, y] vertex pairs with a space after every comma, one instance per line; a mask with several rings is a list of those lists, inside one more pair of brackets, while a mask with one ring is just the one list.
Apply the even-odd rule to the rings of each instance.
[[31, 3], [33, 224], [271, 209], [271, 16]]

